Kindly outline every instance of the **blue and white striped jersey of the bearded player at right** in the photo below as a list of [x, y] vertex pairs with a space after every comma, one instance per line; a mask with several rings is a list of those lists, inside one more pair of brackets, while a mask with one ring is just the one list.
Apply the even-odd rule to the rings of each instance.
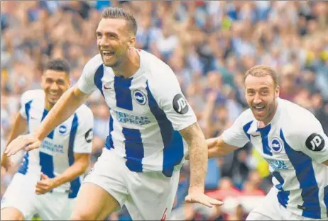
[[224, 142], [243, 147], [251, 141], [267, 160], [278, 201], [297, 215], [327, 218], [328, 137], [310, 111], [278, 99], [278, 109], [265, 128], [250, 109], [222, 134]]

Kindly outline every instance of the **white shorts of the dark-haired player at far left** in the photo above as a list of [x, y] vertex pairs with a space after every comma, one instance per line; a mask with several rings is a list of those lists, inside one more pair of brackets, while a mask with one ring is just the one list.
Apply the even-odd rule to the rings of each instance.
[[15, 174], [1, 200], [3, 208], [16, 208], [25, 220], [33, 215], [40, 215], [42, 220], [70, 220], [75, 199], [68, 198], [67, 193], [35, 194], [36, 182], [40, 176], [34, 174]]

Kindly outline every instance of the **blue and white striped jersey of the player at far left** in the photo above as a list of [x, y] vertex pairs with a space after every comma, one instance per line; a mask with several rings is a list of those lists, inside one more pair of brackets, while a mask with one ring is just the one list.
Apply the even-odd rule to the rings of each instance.
[[[48, 114], [45, 109], [44, 91], [26, 91], [21, 96], [20, 114], [27, 120], [28, 131], [34, 132]], [[92, 111], [82, 105], [70, 118], [45, 137], [40, 148], [26, 152], [18, 173], [38, 175], [42, 172], [50, 178], [62, 174], [74, 163], [75, 153], [92, 152], [92, 128]], [[80, 185], [81, 179], [78, 177], [70, 183], [58, 186], [55, 191], [67, 192], [69, 198], [75, 198]]]

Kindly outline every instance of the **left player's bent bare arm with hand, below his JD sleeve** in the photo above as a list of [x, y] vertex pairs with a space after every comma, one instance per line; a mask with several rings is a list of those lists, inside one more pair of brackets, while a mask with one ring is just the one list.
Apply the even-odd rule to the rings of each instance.
[[89, 166], [90, 154], [74, 154], [75, 162], [68, 167], [62, 174], [50, 179], [45, 174], [41, 174], [41, 180], [36, 183], [35, 193], [40, 195], [48, 193], [53, 188], [61, 186], [64, 183], [76, 179], [78, 176], [84, 174]]

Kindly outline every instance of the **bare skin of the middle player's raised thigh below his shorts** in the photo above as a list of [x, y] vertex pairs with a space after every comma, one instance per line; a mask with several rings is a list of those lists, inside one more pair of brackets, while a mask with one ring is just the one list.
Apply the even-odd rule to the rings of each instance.
[[94, 183], [83, 183], [77, 194], [71, 220], [104, 220], [119, 207], [119, 202], [104, 188]]

